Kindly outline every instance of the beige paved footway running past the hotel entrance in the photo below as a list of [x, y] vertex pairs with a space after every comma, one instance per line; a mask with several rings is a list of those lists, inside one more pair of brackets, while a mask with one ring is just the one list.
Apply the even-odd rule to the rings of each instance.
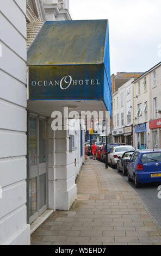
[[69, 211], [49, 216], [31, 245], [161, 245], [161, 235], [131, 185], [88, 159], [77, 179], [77, 200]]

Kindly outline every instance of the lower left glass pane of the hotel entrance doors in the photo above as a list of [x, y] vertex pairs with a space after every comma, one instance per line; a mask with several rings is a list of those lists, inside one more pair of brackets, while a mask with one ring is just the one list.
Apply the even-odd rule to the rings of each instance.
[[37, 192], [36, 192], [36, 178], [29, 181], [29, 216], [35, 214], [37, 211]]

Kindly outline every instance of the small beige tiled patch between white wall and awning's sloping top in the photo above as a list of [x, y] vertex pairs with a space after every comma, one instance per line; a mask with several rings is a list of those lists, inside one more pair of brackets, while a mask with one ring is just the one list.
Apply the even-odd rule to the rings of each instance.
[[44, 21], [35, 21], [27, 24], [27, 50], [39, 33]]

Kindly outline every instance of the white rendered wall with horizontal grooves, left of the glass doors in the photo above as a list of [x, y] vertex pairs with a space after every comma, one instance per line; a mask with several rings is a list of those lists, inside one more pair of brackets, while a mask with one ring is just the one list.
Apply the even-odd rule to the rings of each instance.
[[30, 226], [26, 223], [26, 0], [0, 1], [0, 10], [0, 245], [29, 245]]

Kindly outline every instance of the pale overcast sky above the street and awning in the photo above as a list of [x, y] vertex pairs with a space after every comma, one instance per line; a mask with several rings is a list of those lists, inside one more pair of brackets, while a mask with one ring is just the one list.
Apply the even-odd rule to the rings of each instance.
[[109, 20], [111, 74], [161, 62], [160, 13], [161, 0], [70, 0], [72, 20]]

